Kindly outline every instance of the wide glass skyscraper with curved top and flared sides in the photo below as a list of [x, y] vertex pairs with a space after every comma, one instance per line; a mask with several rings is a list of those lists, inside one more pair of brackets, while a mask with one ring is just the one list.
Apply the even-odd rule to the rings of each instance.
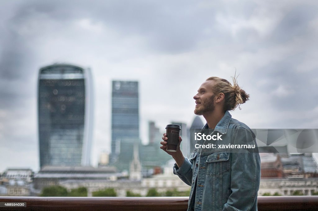
[[90, 164], [93, 118], [89, 69], [54, 64], [39, 70], [40, 167]]

